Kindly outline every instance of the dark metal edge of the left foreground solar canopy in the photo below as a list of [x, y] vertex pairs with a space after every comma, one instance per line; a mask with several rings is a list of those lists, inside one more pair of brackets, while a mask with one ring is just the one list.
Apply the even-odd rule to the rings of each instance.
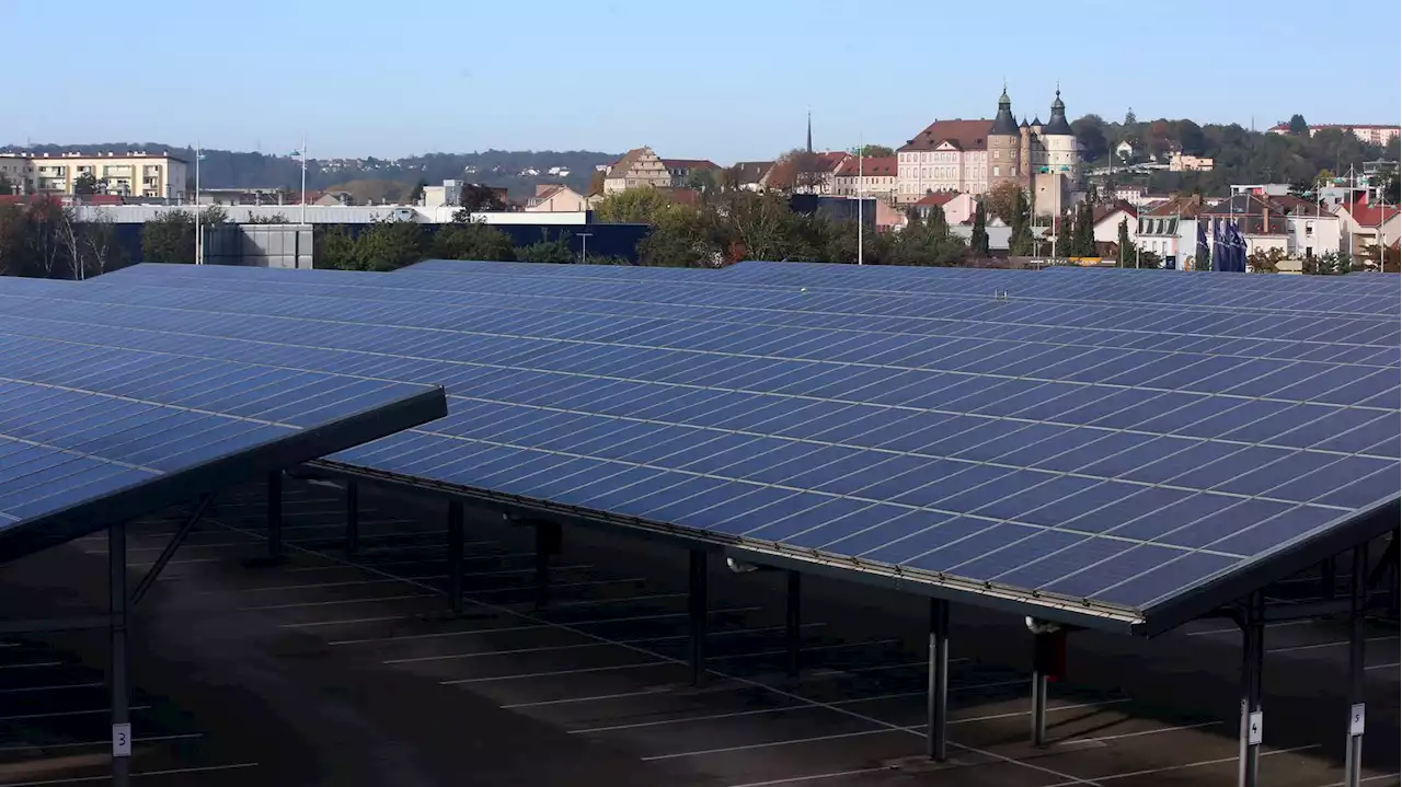
[[446, 416], [447, 396], [443, 388], [421, 388], [422, 392], [387, 405], [358, 410], [287, 437], [224, 454], [8, 527], [0, 531], [0, 563], [98, 532], [202, 493], [244, 483]]

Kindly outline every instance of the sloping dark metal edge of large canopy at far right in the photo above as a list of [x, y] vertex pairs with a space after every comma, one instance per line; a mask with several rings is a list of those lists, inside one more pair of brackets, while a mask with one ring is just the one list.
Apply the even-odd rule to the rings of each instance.
[[1137, 633], [1158, 636], [1234, 604], [1328, 557], [1402, 528], [1402, 497], [1381, 500], [1238, 563], [1144, 609]]

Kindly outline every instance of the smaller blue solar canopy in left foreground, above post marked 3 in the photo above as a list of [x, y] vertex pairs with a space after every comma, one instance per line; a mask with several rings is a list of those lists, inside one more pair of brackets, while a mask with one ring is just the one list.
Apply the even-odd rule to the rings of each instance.
[[[34, 284], [52, 288], [0, 293]], [[0, 300], [0, 560], [444, 412], [433, 386], [192, 357], [195, 335], [181, 354], [130, 349]]]

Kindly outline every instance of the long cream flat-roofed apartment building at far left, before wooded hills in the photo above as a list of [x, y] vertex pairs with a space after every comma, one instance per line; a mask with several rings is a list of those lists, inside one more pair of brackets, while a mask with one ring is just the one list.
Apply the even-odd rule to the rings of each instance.
[[[22, 181], [14, 176], [18, 171]], [[178, 202], [185, 197], [188, 167], [168, 153], [41, 153], [0, 155], [0, 172], [38, 193], [72, 195], [80, 179], [91, 176], [97, 193]]]

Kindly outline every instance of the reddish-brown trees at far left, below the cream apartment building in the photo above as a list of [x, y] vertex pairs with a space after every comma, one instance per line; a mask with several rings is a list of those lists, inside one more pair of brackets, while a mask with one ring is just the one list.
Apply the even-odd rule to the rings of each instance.
[[0, 276], [86, 279], [128, 263], [108, 220], [79, 221], [55, 199], [0, 204]]

